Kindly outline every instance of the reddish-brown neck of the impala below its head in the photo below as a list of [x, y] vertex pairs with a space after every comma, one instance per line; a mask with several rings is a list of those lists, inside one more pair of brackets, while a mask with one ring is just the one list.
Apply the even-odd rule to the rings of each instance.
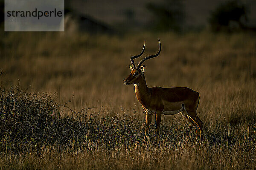
[[151, 90], [147, 86], [144, 75], [139, 82], [134, 84], [134, 87], [135, 87], [135, 94], [137, 96], [137, 99], [142, 105], [144, 105], [147, 108], [151, 98]]

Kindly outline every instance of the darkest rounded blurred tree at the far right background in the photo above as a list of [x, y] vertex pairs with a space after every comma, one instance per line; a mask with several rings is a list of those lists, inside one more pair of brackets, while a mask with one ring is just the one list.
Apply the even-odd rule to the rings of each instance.
[[209, 24], [214, 32], [243, 29], [246, 28], [247, 14], [247, 8], [243, 3], [239, 0], [231, 0], [222, 3], [212, 12]]

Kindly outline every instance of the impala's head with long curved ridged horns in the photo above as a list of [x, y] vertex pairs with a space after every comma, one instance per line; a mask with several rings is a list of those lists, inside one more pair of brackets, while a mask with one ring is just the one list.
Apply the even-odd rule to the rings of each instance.
[[139, 64], [136, 67], [135, 63], [134, 63], [134, 59], [140, 57], [143, 54], [143, 52], [145, 51], [145, 43], [146, 42], [144, 42], [144, 46], [143, 46], [143, 49], [142, 49], [141, 53], [137, 56], [132, 56], [130, 58], [131, 59], [131, 65], [130, 65], [131, 73], [126, 79], [124, 79], [124, 84], [125, 85], [137, 84], [138, 82], [140, 82], [140, 80], [144, 77], [144, 71], [145, 71], [145, 65], [142, 65], [142, 63], [147, 59], [157, 57], [161, 52], [161, 42], [159, 40], [159, 51], [158, 51], [158, 53], [143, 58], [142, 60], [140, 60]]

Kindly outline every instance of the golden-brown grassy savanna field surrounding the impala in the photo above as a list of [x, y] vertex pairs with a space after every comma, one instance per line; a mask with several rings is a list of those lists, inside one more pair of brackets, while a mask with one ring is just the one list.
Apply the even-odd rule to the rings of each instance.
[[[1, 169], [256, 169], [254, 33], [0, 37]], [[153, 117], [143, 142], [145, 113], [123, 79], [158, 38], [147, 85], [199, 92], [201, 142], [180, 113], [162, 116], [158, 145]]]

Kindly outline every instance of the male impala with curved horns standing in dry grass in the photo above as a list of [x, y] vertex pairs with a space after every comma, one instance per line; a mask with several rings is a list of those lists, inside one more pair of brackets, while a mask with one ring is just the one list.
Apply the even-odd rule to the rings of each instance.
[[148, 129], [151, 124], [152, 115], [156, 115], [156, 131], [157, 131], [157, 143], [159, 138], [159, 129], [161, 122], [161, 115], [174, 115], [176, 113], [181, 112], [183, 116], [188, 119], [192, 125], [194, 125], [197, 136], [198, 132], [201, 132], [204, 126], [204, 122], [202, 122], [197, 116], [196, 110], [198, 108], [199, 103], [199, 93], [193, 91], [190, 88], [186, 87], [176, 87], [176, 88], [161, 88], [161, 87], [153, 87], [148, 88], [144, 71], [145, 65], [142, 63], [153, 57], [157, 57], [161, 51], [161, 42], [159, 40], [159, 51], [155, 55], [151, 55], [143, 58], [137, 67], [135, 66], [134, 59], [140, 57], [145, 51], [145, 42], [143, 46], [142, 52], [137, 56], [131, 57], [131, 74], [124, 79], [125, 85], [134, 84], [135, 94], [137, 99], [141, 103], [144, 111], [146, 112], [146, 130], [145, 130], [145, 138], [148, 135]]

